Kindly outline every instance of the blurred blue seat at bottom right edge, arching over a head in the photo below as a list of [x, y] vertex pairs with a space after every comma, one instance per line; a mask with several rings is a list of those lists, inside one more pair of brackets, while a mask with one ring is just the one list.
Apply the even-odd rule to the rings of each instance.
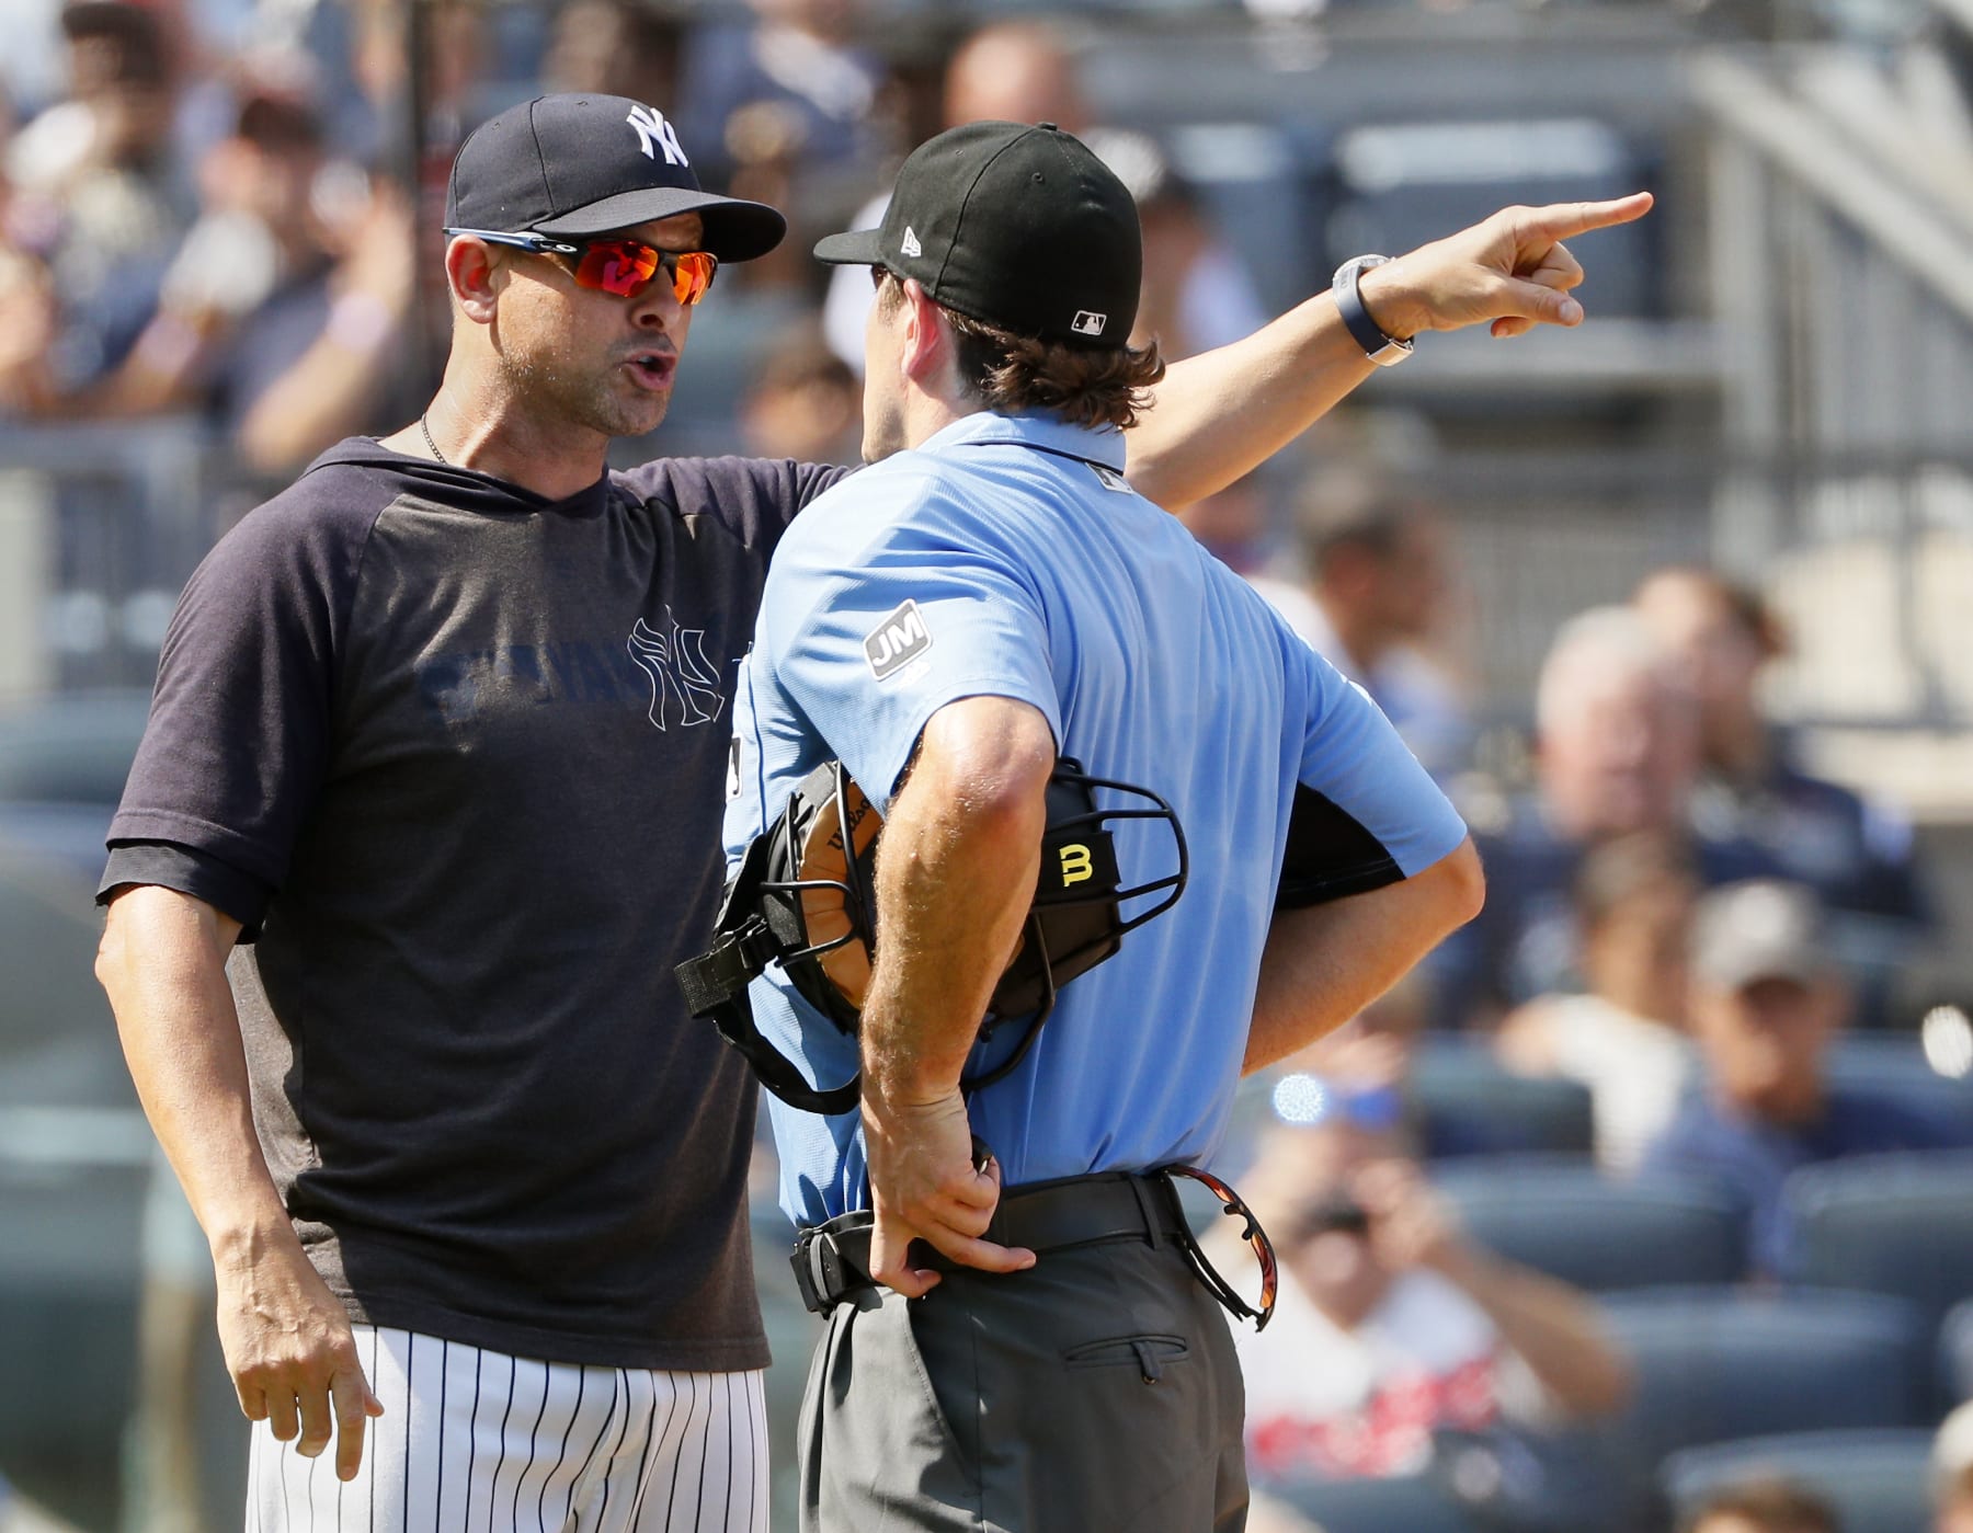
[[1926, 1533], [1932, 1432], [1793, 1432], [1711, 1448], [1687, 1448], [1665, 1460], [1665, 1497], [1683, 1521], [1715, 1492], [1778, 1476], [1813, 1490], [1851, 1533]]

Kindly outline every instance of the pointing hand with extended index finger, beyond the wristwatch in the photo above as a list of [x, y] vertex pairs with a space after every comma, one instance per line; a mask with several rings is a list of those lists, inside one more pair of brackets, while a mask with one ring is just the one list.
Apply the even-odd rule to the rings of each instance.
[[1377, 326], [1397, 339], [1484, 322], [1496, 335], [1523, 335], [1537, 324], [1578, 326], [1582, 304], [1571, 288], [1582, 282], [1582, 266], [1563, 241], [1649, 211], [1649, 191], [1600, 203], [1503, 207], [1363, 272], [1357, 290]]

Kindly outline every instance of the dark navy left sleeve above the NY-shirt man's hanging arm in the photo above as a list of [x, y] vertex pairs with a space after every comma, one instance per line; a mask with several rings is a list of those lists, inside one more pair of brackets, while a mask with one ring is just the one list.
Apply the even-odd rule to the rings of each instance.
[[[225, 864], [241, 878], [221, 908], [249, 929], [322, 789], [337, 651], [373, 523], [375, 511], [294, 491], [260, 507], [193, 572], [164, 639], [109, 846], [162, 842]], [[132, 882], [134, 866], [172, 864], [116, 858], [97, 898]]]

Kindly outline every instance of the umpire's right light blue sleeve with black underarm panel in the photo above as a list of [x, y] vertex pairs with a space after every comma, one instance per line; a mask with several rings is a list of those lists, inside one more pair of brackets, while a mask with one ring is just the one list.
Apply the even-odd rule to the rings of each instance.
[[1312, 906], [1395, 884], [1448, 856], [1466, 823], [1391, 720], [1328, 661], [1314, 665], [1310, 712], [1280, 904]]

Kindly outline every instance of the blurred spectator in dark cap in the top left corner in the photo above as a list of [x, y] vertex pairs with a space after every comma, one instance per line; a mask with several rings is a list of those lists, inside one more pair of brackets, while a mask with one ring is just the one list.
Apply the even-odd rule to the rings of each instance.
[[[49, 408], [136, 341], [183, 221], [172, 197], [172, 61], [158, 14], [126, 0], [61, 12], [69, 97], [6, 152], [0, 312], [37, 345], [0, 343], [0, 397]], [[12, 363], [8, 367], [8, 363]]]

